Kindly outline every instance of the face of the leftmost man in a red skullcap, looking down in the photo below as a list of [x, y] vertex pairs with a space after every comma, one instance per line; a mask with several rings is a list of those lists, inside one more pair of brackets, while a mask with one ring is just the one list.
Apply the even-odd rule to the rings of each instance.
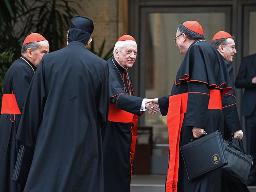
[[49, 52], [49, 44], [46, 41], [38, 42], [39, 48], [36, 51], [31, 51], [31, 62], [34, 66], [38, 66], [42, 57]]

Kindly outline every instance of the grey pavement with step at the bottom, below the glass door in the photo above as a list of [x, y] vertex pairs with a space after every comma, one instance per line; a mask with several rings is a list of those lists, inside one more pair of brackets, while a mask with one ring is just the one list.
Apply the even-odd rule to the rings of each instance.
[[[132, 175], [131, 192], [164, 192], [166, 175]], [[248, 187], [256, 192], [256, 186]]]

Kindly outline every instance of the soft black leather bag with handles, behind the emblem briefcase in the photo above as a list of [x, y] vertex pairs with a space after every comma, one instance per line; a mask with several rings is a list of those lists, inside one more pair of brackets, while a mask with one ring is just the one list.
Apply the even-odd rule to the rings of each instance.
[[223, 141], [228, 164], [222, 168], [222, 176], [233, 182], [246, 184], [253, 157], [244, 151], [242, 140], [238, 140], [240, 146], [234, 144], [233, 141], [233, 136], [228, 141]]

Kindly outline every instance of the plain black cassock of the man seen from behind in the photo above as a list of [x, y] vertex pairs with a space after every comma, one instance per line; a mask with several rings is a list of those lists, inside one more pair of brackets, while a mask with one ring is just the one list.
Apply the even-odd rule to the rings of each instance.
[[24, 192], [103, 192], [108, 66], [81, 42], [43, 56], [17, 139], [34, 149]]

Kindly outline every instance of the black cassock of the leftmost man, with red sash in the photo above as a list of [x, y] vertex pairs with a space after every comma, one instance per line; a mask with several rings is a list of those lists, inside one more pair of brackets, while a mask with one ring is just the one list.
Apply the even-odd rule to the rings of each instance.
[[[26, 62], [26, 61], [28, 62]], [[4, 76], [3, 94], [16, 98], [16, 103], [22, 113], [28, 87], [34, 75], [36, 67], [25, 57], [13, 62]], [[12, 94], [13, 91], [13, 95]], [[5, 96], [6, 96], [5, 95]], [[3, 100], [3, 103], [6, 102]], [[12, 105], [11, 103], [9, 103]], [[14, 104], [14, 103], [13, 103]], [[18, 154], [16, 132], [20, 124], [21, 114], [12, 110], [4, 112], [0, 116], [0, 191], [22, 191], [22, 186], [12, 181], [12, 175]], [[13, 121], [11, 121], [11, 120]]]

